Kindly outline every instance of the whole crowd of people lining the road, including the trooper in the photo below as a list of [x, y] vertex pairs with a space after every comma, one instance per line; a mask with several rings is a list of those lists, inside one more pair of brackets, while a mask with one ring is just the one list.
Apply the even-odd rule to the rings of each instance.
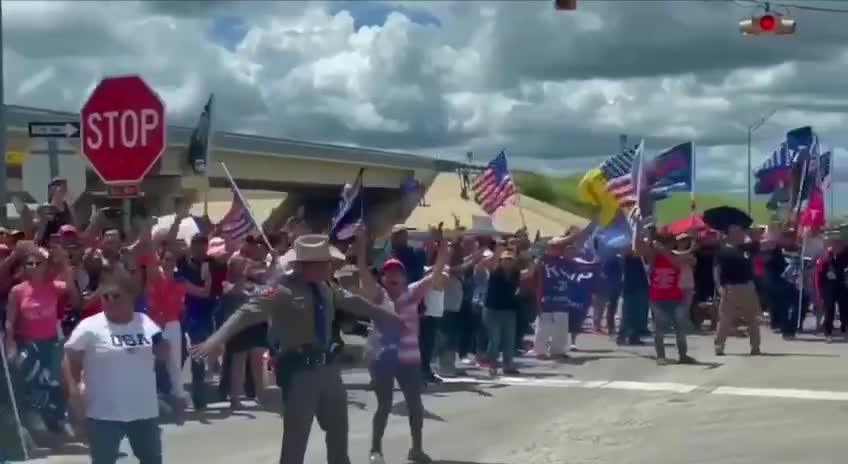
[[[409, 408], [409, 459], [426, 463], [422, 391], [462, 369], [520, 375], [516, 356], [568, 357], [587, 330], [620, 345], [653, 335], [661, 365], [669, 363], [670, 330], [678, 362], [695, 363], [687, 337], [704, 331], [706, 319], [716, 355], [740, 325], [758, 355], [764, 313], [791, 339], [812, 310], [815, 330], [831, 341], [836, 308], [842, 322], [848, 301], [848, 249], [838, 230], [805, 232], [803, 253], [794, 230], [740, 226], [676, 236], [649, 229], [608, 249], [589, 228], [544, 241], [526, 230], [438, 227], [414, 245], [398, 225], [376, 247], [364, 226], [351, 243], [330, 243], [298, 219], [227, 240], [205, 221], [209, 227], [187, 243], [177, 238], [181, 222], [192, 220], [186, 211], [169, 229], [148, 218], [121, 230], [103, 210], [83, 228], [61, 179], [51, 189], [50, 207], [39, 208], [26, 230], [0, 229], [5, 353], [25, 428], [83, 438], [95, 464], [114, 463], [123, 438], [141, 463], [161, 463], [163, 411], [179, 421], [187, 408], [218, 399], [234, 409], [246, 397], [264, 402], [269, 366], [284, 403], [280, 462], [303, 462], [317, 418], [328, 462], [349, 463], [335, 361], [350, 318], [370, 321], [377, 399], [370, 462], [383, 462], [397, 381]], [[560, 299], [549, 298], [543, 282], [556, 274], [554, 262], [580, 270], [563, 274]], [[355, 278], [343, 276], [350, 269]], [[220, 374], [217, 398], [206, 388], [210, 373]]]

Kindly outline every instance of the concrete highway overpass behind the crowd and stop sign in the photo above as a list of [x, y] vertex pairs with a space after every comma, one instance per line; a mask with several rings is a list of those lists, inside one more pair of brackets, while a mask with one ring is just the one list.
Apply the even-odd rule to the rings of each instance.
[[[6, 121], [7, 152], [25, 153], [33, 144], [27, 133], [28, 123], [79, 121], [79, 114], [7, 105]], [[189, 127], [168, 127], [168, 147], [142, 184], [143, 204], [150, 214], [169, 212], [176, 197], [196, 202], [210, 188], [227, 188], [226, 177], [217, 162], [209, 167], [208, 181], [191, 171], [187, 155], [191, 133]], [[79, 152], [78, 139], [69, 143]], [[413, 177], [426, 188], [439, 172], [453, 171], [460, 166], [405, 153], [231, 132], [216, 132], [211, 145], [212, 159], [226, 163], [241, 189], [286, 193], [280, 195], [270, 215], [271, 222], [304, 207], [307, 216], [317, 218], [316, 227], [321, 226], [326, 212], [337, 204], [341, 186], [353, 181], [360, 168], [365, 168], [364, 185], [369, 216], [372, 216], [369, 221], [383, 225], [406, 219], [417, 204], [417, 199], [409, 199], [401, 193], [401, 183]], [[15, 177], [20, 178], [20, 170], [12, 167], [9, 173], [10, 190], [20, 190], [20, 182], [15, 181]], [[90, 171], [88, 194], [78, 202], [81, 212], [87, 211], [95, 201], [96, 192], [104, 190], [105, 186]], [[259, 218], [267, 216], [256, 214]]]

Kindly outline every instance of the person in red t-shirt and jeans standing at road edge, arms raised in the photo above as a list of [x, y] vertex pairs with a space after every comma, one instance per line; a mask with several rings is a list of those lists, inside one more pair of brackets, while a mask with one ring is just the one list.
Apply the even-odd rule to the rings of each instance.
[[633, 249], [649, 264], [648, 297], [654, 316], [654, 349], [657, 364], [669, 363], [665, 357], [665, 330], [671, 324], [677, 338], [678, 362], [694, 364], [695, 359], [687, 354], [686, 330], [689, 324], [689, 308], [685, 304], [683, 290], [680, 288], [681, 268], [694, 266], [695, 257], [691, 248], [682, 252], [672, 251], [675, 239], [669, 235], [660, 235], [656, 240], [636, 236]]

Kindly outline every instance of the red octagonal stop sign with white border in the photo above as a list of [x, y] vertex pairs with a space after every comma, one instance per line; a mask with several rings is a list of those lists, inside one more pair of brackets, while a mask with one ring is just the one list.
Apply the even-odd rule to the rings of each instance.
[[165, 105], [139, 76], [100, 81], [80, 119], [82, 153], [108, 185], [141, 182], [165, 151]]

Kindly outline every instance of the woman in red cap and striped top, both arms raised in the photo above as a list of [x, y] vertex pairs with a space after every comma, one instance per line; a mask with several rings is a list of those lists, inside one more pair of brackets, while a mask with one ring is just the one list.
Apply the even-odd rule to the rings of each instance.
[[368, 234], [360, 228], [356, 235], [356, 257], [363, 296], [376, 304], [394, 306], [401, 316], [400, 326], [374, 321], [374, 359], [371, 372], [377, 410], [374, 412], [371, 436], [370, 464], [384, 464], [383, 433], [392, 409], [392, 391], [398, 381], [409, 409], [409, 428], [412, 448], [407, 459], [415, 463], [432, 462], [424, 453], [421, 433], [424, 426], [424, 405], [421, 402], [421, 353], [418, 347], [418, 305], [431, 286], [441, 286], [446, 278], [445, 266], [450, 257], [447, 240], [439, 244], [432, 273], [413, 283], [406, 281], [406, 269], [396, 259], [389, 259], [380, 268], [380, 282], [370, 273], [368, 266]]

